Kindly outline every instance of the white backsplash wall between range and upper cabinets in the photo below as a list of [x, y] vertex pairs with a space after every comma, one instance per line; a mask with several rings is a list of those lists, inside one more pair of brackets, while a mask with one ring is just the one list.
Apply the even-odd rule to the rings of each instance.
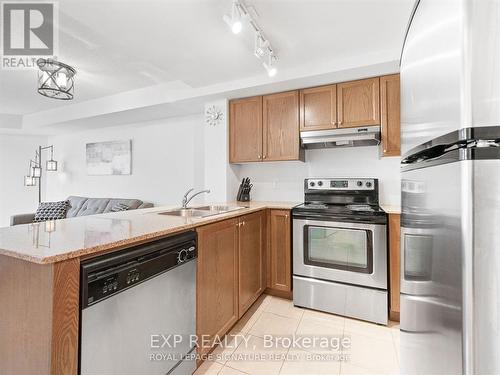
[[250, 163], [234, 166], [238, 179], [250, 177], [253, 200], [304, 200], [308, 177], [374, 177], [380, 202], [400, 204], [399, 157], [380, 158], [378, 147], [307, 150], [306, 162]]

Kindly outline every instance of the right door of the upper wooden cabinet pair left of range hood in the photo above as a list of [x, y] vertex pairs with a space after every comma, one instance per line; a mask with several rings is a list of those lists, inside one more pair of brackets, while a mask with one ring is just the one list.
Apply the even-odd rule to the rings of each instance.
[[299, 92], [265, 95], [262, 107], [264, 161], [299, 160]]

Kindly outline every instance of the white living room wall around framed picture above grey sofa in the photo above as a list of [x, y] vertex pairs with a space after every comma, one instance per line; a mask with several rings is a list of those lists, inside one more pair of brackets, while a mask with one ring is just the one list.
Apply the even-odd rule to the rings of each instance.
[[[48, 179], [46, 198], [83, 195], [178, 205], [188, 188], [205, 187], [202, 124], [202, 116], [196, 115], [50, 137], [60, 170]], [[128, 139], [132, 140], [131, 175], [87, 175], [86, 143]]]

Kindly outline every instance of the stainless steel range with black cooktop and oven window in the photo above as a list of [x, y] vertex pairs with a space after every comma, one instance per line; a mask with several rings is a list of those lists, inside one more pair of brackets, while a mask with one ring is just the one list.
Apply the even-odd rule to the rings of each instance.
[[387, 215], [373, 178], [310, 178], [293, 215], [296, 306], [387, 324]]

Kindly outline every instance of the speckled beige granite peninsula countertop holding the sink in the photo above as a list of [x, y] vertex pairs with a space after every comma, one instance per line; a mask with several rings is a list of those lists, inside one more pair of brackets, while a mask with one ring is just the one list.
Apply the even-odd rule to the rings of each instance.
[[205, 218], [158, 215], [176, 207], [82, 216], [46, 223], [0, 228], [0, 255], [33, 263], [56, 263], [154, 240], [168, 234], [265, 208], [291, 209], [298, 202], [225, 202], [244, 208]]

